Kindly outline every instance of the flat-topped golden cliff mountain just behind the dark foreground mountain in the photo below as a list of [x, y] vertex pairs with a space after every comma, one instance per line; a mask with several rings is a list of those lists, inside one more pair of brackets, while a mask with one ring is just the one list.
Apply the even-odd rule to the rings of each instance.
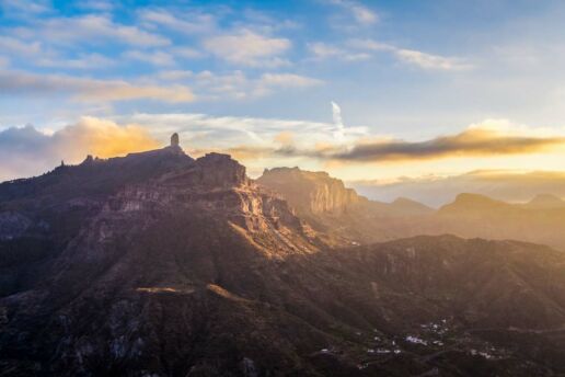
[[434, 212], [407, 198], [369, 201], [326, 172], [275, 168], [265, 170], [256, 182], [281, 195], [313, 229], [333, 236], [326, 240], [330, 243], [358, 244], [414, 236], [418, 221]]

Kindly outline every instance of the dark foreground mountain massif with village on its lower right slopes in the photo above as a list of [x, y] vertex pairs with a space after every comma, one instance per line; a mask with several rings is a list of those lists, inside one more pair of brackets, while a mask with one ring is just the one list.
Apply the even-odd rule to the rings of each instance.
[[565, 373], [562, 252], [336, 248], [298, 214], [353, 196], [297, 209], [229, 156], [172, 147], [0, 185], [0, 375]]

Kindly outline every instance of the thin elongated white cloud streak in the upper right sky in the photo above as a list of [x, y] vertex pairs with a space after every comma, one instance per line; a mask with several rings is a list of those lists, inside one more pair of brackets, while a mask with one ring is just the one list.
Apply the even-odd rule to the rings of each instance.
[[462, 58], [445, 57], [415, 49], [400, 48], [372, 39], [351, 39], [348, 42], [348, 45], [351, 48], [366, 52], [389, 53], [405, 64], [417, 66], [423, 69], [459, 71], [473, 68], [472, 64]]

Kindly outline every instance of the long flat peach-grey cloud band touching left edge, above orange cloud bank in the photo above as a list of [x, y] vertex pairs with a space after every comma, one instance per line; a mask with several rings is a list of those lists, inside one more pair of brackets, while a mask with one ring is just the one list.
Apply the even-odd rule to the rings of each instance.
[[82, 102], [155, 100], [189, 102], [194, 94], [186, 87], [137, 85], [123, 80], [97, 80], [58, 75], [0, 71], [0, 93], [4, 95], [70, 95]]

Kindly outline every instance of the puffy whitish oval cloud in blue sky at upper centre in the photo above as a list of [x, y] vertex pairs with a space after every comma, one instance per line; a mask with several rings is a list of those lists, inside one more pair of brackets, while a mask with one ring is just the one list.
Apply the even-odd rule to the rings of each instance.
[[234, 65], [273, 68], [289, 65], [280, 55], [291, 47], [291, 43], [287, 38], [267, 37], [242, 30], [206, 38], [204, 47], [210, 54]]

